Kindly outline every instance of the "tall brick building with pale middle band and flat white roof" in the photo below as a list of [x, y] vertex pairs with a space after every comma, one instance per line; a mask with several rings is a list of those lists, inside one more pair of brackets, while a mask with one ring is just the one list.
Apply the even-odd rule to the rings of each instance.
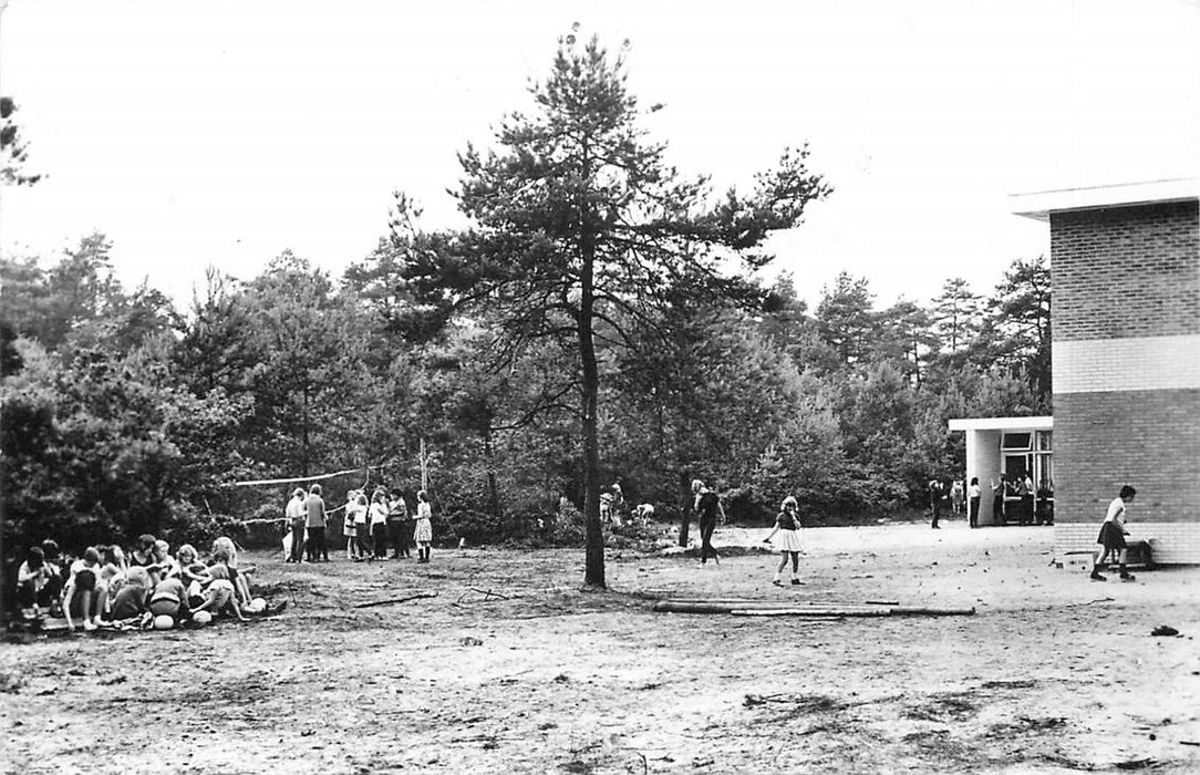
[[1056, 551], [1129, 483], [1133, 537], [1200, 563], [1200, 180], [1013, 202], [1050, 224]]

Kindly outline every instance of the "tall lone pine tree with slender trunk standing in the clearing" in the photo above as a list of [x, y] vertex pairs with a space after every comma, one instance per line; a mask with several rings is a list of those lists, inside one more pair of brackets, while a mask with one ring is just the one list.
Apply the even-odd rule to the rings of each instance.
[[804, 206], [827, 192], [787, 152], [758, 176], [756, 191], [710, 200], [703, 179], [685, 179], [648, 142], [625, 88], [620, 56], [593, 38], [560, 42], [545, 83], [532, 88], [534, 110], [509, 116], [497, 148], [469, 148], [457, 194], [473, 222], [455, 250], [412, 277], [438, 281], [438, 295], [461, 294], [460, 311], [486, 310], [496, 331], [496, 366], [535, 342], [562, 349], [576, 368], [548, 389], [571, 395], [581, 427], [586, 583], [604, 587], [600, 525], [600, 395], [606, 350], [636, 348], [640, 335], [670, 338], [664, 316], [680, 305], [734, 300], [752, 289], [719, 264], [749, 269], [776, 229], [797, 226]]

